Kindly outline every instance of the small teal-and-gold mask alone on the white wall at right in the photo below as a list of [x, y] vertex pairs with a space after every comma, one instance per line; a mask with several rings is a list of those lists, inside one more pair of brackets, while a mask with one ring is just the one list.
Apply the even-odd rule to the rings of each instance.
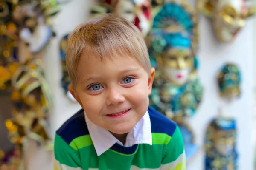
[[218, 74], [220, 96], [228, 101], [238, 98], [240, 92], [241, 73], [238, 66], [227, 63]]

